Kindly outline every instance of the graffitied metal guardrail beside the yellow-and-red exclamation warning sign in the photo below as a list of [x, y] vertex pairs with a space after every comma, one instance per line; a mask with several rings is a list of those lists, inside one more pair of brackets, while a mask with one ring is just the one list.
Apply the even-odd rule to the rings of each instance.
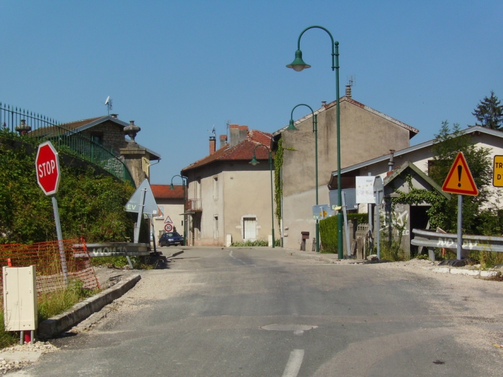
[[[444, 249], [456, 249], [456, 245], [458, 245], [457, 234], [437, 233], [419, 229], [413, 229], [412, 232], [415, 236], [411, 240], [411, 245]], [[503, 237], [463, 234], [462, 239], [462, 249], [466, 251], [503, 252]]]

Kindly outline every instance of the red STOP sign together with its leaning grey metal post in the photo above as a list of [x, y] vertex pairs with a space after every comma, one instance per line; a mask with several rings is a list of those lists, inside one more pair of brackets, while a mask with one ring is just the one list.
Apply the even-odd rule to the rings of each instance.
[[52, 199], [52, 210], [54, 210], [54, 221], [56, 222], [56, 233], [59, 243], [59, 256], [63, 269], [63, 280], [68, 284], [68, 269], [66, 267], [65, 249], [63, 247], [63, 234], [61, 233], [61, 223], [59, 221], [58, 202], [56, 193], [58, 192], [59, 181], [61, 181], [61, 168], [59, 167], [59, 155], [54, 145], [50, 141], [45, 141], [39, 145], [37, 157], [35, 158], [35, 171], [37, 173], [37, 183], [45, 195]]

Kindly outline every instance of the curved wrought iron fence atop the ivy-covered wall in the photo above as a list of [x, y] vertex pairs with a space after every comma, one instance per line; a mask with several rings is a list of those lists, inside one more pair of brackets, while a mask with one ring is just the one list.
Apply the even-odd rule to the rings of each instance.
[[12, 134], [18, 132], [41, 141], [50, 140], [63, 152], [98, 165], [122, 181], [129, 181], [133, 187], [135, 186], [130, 171], [119, 156], [92, 141], [90, 137], [65, 129], [55, 119], [0, 103], [0, 125], [2, 130]]

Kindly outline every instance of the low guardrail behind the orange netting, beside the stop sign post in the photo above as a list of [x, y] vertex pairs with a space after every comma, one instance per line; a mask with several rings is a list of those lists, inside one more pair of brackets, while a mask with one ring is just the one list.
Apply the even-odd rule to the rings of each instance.
[[[77, 243], [74, 247], [74, 258], [88, 256], [147, 256], [150, 245], [147, 243], [110, 242], [110, 243]], [[87, 249], [87, 252], [83, 250]]]

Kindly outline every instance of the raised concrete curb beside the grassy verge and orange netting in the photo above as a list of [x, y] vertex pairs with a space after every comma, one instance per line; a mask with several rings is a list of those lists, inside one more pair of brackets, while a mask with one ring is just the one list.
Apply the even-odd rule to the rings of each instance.
[[43, 339], [54, 338], [54, 336], [64, 332], [66, 329], [70, 329], [81, 322], [81, 320], [88, 318], [91, 314], [99, 312], [101, 308], [112, 303], [116, 298], [121, 297], [125, 292], [134, 287], [140, 279], [140, 275], [125, 278], [125, 280], [117, 283], [113, 287], [105, 289], [103, 292], [96, 294], [96, 296], [86, 298], [80, 303], [76, 303], [72, 309], [58, 316], [44, 320], [42, 323], [39, 323], [37, 336]]

